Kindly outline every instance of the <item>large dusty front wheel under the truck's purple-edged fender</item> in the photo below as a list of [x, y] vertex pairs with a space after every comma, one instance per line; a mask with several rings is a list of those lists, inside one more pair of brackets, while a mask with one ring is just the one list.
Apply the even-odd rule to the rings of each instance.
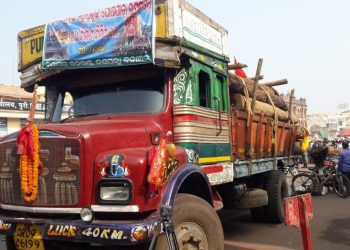
[[[220, 219], [205, 200], [191, 194], [177, 194], [173, 223], [180, 249], [224, 249], [224, 232]], [[164, 234], [158, 236], [156, 249], [168, 249]]]

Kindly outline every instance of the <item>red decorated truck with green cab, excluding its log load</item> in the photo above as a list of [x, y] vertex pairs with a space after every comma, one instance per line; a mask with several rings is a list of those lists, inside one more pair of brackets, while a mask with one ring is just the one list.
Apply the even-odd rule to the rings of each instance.
[[17, 154], [21, 133], [0, 141], [8, 249], [166, 249], [174, 235], [180, 249], [223, 249], [222, 208], [284, 220], [297, 126], [232, 106], [227, 31], [186, 1], [120, 4], [18, 41], [47, 122], [28, 126], [40, 163]]

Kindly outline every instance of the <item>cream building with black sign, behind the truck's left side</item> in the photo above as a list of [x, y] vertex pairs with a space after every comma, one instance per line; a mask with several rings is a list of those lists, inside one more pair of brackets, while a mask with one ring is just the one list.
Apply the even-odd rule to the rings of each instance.
[[[38, 90], [38, 93], [34, 118], [40, 122], [44, 119], [45, 104], [44, 92]], [[0, 84], [0, 136], [16, 132], [27, 124], [32, 96], [19, 86]]]

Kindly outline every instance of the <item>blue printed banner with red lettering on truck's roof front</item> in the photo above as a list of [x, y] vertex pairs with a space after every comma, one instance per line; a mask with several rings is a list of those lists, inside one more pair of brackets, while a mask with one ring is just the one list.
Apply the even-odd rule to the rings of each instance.
[[153, 1], [128, 2], [46, 25], [42, 67], [74, 69], [154, 61]]

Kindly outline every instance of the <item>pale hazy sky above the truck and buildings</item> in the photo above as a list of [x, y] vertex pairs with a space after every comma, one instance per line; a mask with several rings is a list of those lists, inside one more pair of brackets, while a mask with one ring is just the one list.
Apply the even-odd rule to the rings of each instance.
[[[264, 59], [262, 82], [288, 79], [280, 93], [295, 89], [308, 113], [350, 103], [350, 1], [188, 0], [227, 29], [229, 57], [255, 76]], [[61, 18], [113, 6], [125, 0], [11, 0], [2, 5], [0, 83], [19, 84], [17, 34]]]

